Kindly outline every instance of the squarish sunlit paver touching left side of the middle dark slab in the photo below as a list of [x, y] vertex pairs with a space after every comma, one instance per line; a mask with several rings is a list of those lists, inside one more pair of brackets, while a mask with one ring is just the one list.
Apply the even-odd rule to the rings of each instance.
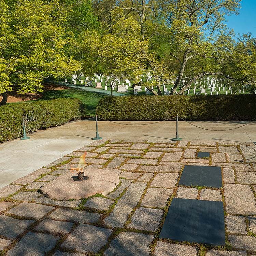
[[172, 188], [177, 183], [178, 173], [157, 173], [151, 182], [151, 187]]

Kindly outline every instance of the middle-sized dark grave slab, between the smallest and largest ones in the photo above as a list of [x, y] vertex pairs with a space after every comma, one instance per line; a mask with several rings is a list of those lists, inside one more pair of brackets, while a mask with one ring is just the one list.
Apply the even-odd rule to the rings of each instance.
[[222, 187], [221, 167], [185, 165], [179, 185]]

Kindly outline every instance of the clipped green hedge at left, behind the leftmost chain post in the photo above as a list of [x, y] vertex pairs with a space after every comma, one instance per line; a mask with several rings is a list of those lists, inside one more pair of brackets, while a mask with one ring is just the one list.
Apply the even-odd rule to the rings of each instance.
[[22, 137], [22, 115], [30, 133], [80, 119], [85, 116], [85, 107], [80, 100], [67, 98], [1, 106], [0, 142]]

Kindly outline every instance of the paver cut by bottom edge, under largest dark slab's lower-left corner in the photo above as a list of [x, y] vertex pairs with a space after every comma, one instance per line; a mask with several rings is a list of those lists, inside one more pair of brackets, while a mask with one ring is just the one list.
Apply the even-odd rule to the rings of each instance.
[[158, 241], [154, 256], [196, 256], [197, 248]]

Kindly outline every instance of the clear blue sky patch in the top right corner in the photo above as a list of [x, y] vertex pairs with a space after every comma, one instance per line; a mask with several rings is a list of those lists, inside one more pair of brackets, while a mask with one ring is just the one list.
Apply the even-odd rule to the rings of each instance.
[[239, 15], [227, 17], [227, 26], [235, 33], [251, 32], [256, 37], [256, 0], [242, 0]]

